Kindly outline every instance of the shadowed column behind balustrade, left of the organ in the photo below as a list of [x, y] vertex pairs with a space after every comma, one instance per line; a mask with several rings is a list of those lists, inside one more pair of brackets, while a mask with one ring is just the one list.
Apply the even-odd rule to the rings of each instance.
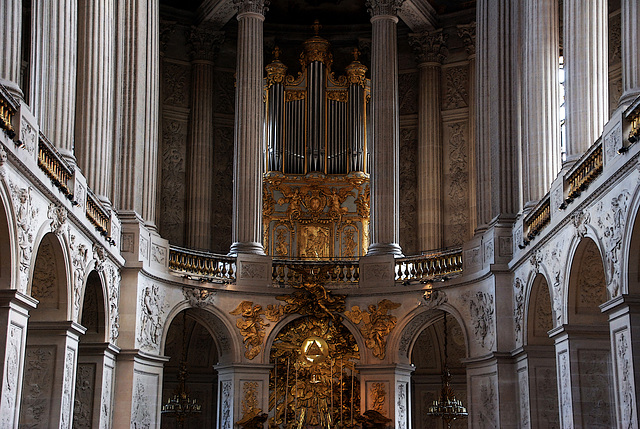
[[189, 199], [187, 246], [211, 248], [213, 212], [213, 61], [224, 33], [210, 28], [192, 28], [191, 122], [189, 126]]

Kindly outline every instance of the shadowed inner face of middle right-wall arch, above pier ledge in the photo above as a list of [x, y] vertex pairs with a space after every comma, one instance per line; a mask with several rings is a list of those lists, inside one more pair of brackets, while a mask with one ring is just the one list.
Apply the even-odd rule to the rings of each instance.
[[606, 323], [599, 308], [607, 301], [605, 265], [597, 242], [584, 237], [577, 243], [567, 265], [565, 294], [569, 324]]

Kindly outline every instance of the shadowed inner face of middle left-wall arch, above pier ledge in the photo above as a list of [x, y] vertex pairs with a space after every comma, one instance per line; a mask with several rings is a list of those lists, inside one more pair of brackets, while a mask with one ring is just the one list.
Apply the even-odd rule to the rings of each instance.
[[71, 320], [69, 269], [59, 238], [51, 232], [44, 234], [33, 259], [27, 292], [39, 304], [31, 312], [31, 320]]

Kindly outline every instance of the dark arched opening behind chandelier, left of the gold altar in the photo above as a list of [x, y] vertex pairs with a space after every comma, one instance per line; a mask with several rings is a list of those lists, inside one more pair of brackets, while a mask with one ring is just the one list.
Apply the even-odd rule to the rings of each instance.
[[[214, 365], [219, 362], [219, 351], [211, 332], [202, 323], [199, 312], [188, 309], [178, 313], [171, 322], [165, 341], [164, 354], [170, 357], [164, 367], [162, 404], [166, 405], [182, 391], [201, 405], [201, 412], [185, 418], [184, 428], [216, 427], [218, 374]], [[183, 382], [181, 384], [181, 377]], [[184, 388], [184, 389], [183, 389]], [[177, 426], [177, 417], [162, 412], [161, 427]]]

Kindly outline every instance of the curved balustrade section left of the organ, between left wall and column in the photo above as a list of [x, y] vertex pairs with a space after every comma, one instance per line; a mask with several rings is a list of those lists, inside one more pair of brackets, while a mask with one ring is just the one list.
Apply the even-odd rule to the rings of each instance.
[[171, 246], [169, 269], [192, 280], [230, 283], [236, 279], [236, 258]]

